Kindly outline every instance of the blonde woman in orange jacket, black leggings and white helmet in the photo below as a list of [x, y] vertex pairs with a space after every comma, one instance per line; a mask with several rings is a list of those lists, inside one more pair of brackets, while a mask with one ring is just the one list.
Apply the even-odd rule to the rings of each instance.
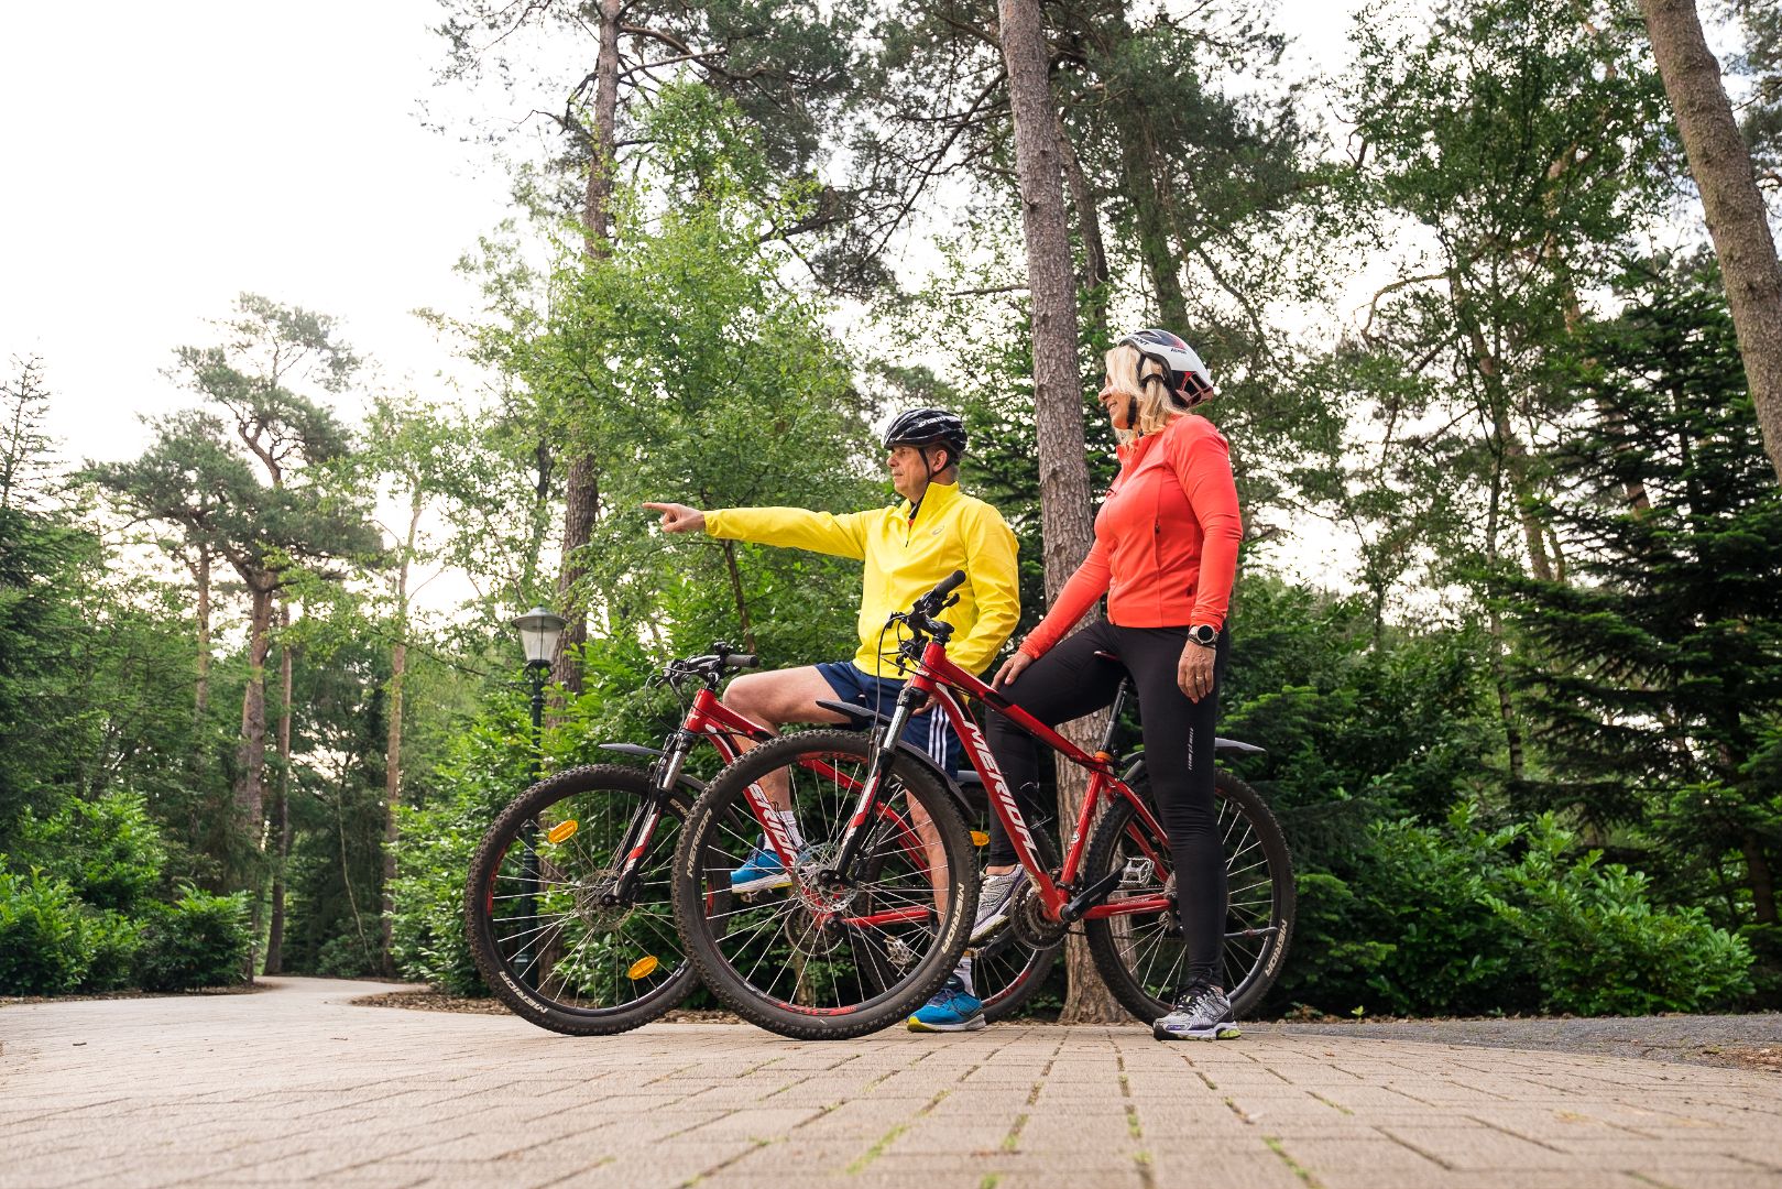
[[[1226, 879], [1214, 809], [1214, 717], [1242, 524], [1230, 447], [1210, 421], [1189, 412], [1212, 394], [1199, 355], [1167, 330], [1126, 335], [1107, 353], [1101, 406], [1121, 439], [1121, 469], [1096, 515], [1096, 544], [996, 674], [996, 685], [1048, 726], [1110, 704], [1121, 677], [1133, 681], [1187, 941], [1174, 1009], [1153, 1023], [1158, 1039], [1238, 1036], [1221, 986]], [[1064, 640], [1103, 594], [1107, 622]], [[991, 715], [989, 743], [1009, 784], [1030, 797], [1039, 783], [1035, 742]], [[1007, 920], [1026, 879], [1000, 824], [985, 872], [973, 939]]]

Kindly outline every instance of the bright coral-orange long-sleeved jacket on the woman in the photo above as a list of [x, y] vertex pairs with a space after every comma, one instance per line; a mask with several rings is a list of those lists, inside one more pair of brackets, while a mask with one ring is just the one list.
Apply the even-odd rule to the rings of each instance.
[[1244, 528], [1231, 447], [1190, 414], [1121, 446], [1119, 460], [1096, 544], [1021, 642], [1028, 656], [1044, 656], [1103, 594], [1119, 627], [1224, 626]]

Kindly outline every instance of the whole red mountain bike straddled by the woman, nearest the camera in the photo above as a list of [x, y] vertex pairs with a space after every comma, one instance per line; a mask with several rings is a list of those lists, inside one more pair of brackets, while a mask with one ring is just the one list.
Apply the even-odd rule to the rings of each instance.
[[[1009, 931], [1039, 950], [1057, 945], [1080, 922], [1096, 970], [1116, 998], [1140, 1020], [1169, 1011], [1185, 955], [1167, 834], [1151, 804], [1116, 775], [1110, 754], [1082, 750], [948, 660], [952, 626], [936, 617], [962, 581], [964, 574], [955, 572], [911, 611], [891, 617], [887, 626], [907, 633], [898, 654], [912, 677], [879, 731], [811, 731], [757, 747], [725, 768], [688, 815], [674, 872], [675, 920], [688, 955], [713, 993], [766, 1029], [818, 1039], [884, 1027], [927, 1000], [964, 952], [977, 888], [959, 877], [966, 868], [953, 856], [969, 838], [941, 781], [895, 743], [923, 697], [934, 697], [959, 733], [1030, 875]], [[959, 692], [982, 699], [1089, 770], [1089, 793], [1057, 870], [1046, 863], [984, 733], [960, 708]], [[816, 775], [818, 763], [832, 775]], [[805, 838], [802, 849], [781, 856], [795, 861], [795, 886], [782, 900], [722, 904], [718, 893], [747, 829], [741, 824], [754, 816], [754, 790], [772, 772], [786, 774]], [[1221, 774], [1217, 791], [1231, 888], [1226, 988], [1233, 1009], [1244, 1013], [1274, 984], [1287, 954], [1292, 863], [1274, 815], [1253, 790]], [[887, 831], [887, 804], [905, 831], [921, 832], [921, 849], [900, 849], [895, 831]], [[928, 806], [943, 811], [920, 818]], [[907, 872], [898, 898], [879, 890], [887, 856]], [[884, 945], [870, 925], [891, 911], [923, 923], [898, 936], [905, 948]], [[807, 975], [813, 963], [814, 979]]]

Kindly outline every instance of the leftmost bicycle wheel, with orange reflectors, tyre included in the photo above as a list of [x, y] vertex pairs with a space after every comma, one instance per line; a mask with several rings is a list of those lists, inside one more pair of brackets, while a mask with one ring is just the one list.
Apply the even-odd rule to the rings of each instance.
[[[620, 902], [627, 832], [658, 809], [640, 882]], [[658, 797], [649, 775], [620, 765], [560, 772], [501, 811], [470, 859], [463, 916], [483, 982], [513, 1014], [604, 1036], [686, 998], [693, 966], [668, 906], [686, 811], [684, 793]]]

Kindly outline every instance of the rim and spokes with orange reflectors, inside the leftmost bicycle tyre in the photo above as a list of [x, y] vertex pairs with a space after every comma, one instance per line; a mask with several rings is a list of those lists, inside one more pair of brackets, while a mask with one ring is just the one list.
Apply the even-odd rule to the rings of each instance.
[[670, 906], [675, 813], [661, 813], [633, 895], [609, 902], [622, 840], [642, 804], [613, 790], [581, 791], [517, 824], [481, 897], [497, 991], [533, 1007], [601, 1014], [677, 989], [688, 964]]

